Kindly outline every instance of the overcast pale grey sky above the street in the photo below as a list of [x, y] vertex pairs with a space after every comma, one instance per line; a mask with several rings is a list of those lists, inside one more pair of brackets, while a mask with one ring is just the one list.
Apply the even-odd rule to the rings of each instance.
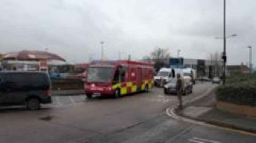
[[[248, 63], [256, 53], [256, 1], [227, 1], [228, 64]], [[132, 55], [141, 59], [156, 46], [171, 56], [205, 59], [222, 52], [223, 0], [0, 0], [2, 53], [22, 49], [57, 53], [68, 61]], [[254, 57], [254, 56], [253, 56]], [[256, 59], [253, 58], [253, 62]]]

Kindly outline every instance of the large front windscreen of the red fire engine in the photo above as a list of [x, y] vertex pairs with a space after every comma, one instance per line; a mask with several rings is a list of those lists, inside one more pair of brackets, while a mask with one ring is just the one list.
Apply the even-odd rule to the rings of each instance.
[[87, 82], [111, 82], [113, 67], [89, 67], [87, 71]]

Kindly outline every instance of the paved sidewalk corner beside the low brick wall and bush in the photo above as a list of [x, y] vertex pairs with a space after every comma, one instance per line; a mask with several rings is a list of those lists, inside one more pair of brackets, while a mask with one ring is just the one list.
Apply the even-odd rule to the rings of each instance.
[[256, 118], [232, 114], [216, 108], [215, 90], [207, 96], [187, 104], [181, 115], [218, 126], [256, 133]]

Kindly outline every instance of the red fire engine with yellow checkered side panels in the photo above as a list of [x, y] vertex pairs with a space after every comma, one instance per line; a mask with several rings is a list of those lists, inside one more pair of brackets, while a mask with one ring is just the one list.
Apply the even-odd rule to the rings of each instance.
[[138, 61], [99, 61], [87, 69], [84, 90], [87, 98], [93, 94], [121, 95], [148, 91], [153, 88], [153, 64]]

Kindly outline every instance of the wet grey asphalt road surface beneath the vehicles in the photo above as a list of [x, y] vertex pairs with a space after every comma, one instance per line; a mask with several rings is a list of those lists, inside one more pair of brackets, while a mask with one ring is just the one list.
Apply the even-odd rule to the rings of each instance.
[[[214, 88], [196, 84], [191, 101]], [[72, 101], [73, 100], [73, 101]], [[166, 116], [176, 95], [162, 88], [119, 99], [53, 96], [40, 111], [0, 107], [1, 143], [255, 143], [256, 136], [197, 125]]]

